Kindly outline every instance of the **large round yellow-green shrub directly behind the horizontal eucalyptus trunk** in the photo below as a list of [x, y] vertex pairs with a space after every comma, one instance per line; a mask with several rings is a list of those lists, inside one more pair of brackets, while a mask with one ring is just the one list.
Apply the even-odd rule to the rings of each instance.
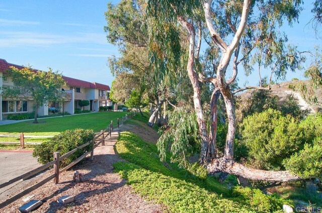
[[277, 110], [255, 113], [244, 119], [240, 127], [248, 161], [260, 169], [281, 169], [283, 159], [290, 157], [303, 143], [296, 120]]

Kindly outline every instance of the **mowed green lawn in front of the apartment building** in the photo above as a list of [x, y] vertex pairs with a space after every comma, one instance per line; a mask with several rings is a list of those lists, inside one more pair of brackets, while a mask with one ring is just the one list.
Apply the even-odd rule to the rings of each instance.
[[[23, 132], [25, 135], [56, 135], [66, 129], [75, 128], [93, 129], [95, 132], [99, 132], [101, 129], [105, 129], [110, 124], [111, 120], [113, 120], [115, 127], [117, 125], [117, 118], [122, 118], [122, 116], [127, 113], [129, 112], [96, 112], [54, 117], [39, 119], [38, 121], [45, 122], [38, 124], [34, 124], [32, 121], [25, 121], [0, 126], [0, 134], [19, 134], [20, 132]], [[2, 138], [0, 138], [0, 140], [5, 141]], [[15, 139], [12, 140], [16, 141]], [[35, 140], [30, 140], [30, 142], [34, 142]], [[6, 141], [8, 140], [6, 139]], [[28, 140], [26, 139], [26, 141]], [[39, 139], [37, 139], [37, 141], [39, 141]]]

